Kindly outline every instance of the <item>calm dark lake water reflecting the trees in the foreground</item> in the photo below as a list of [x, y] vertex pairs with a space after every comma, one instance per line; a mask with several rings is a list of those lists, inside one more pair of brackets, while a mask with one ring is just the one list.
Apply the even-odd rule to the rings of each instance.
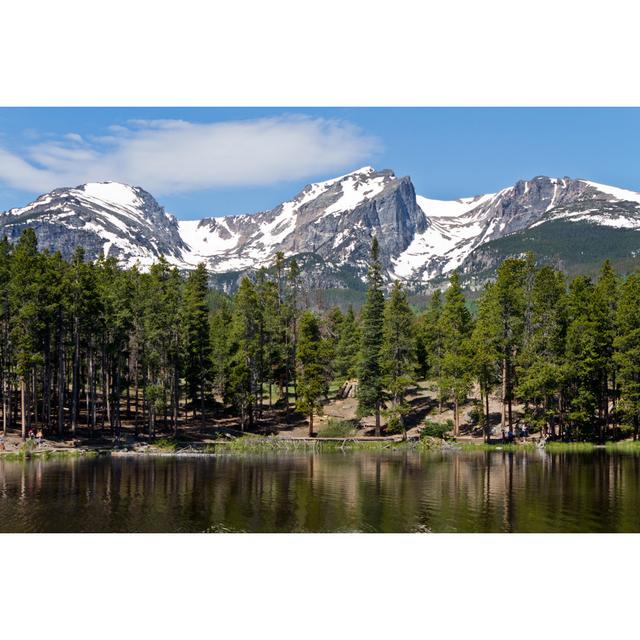
[[640, 456], [0, 460], [3, 532], [640, 532]]

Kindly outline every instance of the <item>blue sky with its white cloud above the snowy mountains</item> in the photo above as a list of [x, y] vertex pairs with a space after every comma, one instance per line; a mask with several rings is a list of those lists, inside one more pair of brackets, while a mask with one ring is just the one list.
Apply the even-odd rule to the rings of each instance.
[[364, 165], [457, 198], [536, 175], [640, 191], [640, 109], [3, 108], [0, 211], [119, 180], [181, 219], [269, 209]]

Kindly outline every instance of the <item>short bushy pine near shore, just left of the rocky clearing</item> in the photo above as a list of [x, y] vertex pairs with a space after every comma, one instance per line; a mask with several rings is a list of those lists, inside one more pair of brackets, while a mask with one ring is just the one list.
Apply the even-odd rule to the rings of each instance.
[[321, 398], [327, 394], [327, 351], [318, 318], [305, 311], [300, 316], [296, 349], [298, 363], [298, 409], [309, 416], [309, 437], [314, 435], [313, 415], [322, 410]]

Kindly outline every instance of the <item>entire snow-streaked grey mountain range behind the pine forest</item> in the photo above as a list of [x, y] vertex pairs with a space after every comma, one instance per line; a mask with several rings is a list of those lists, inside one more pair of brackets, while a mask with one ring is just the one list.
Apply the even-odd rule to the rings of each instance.
[[160, 255], [184, 269], [205, 262], [225, 286], [282, 251], [297, 258], [312, 286], [362, 288], [375, 235], [387, 280], [420, 290], [455, 269], [479, 285], [502, 259], [526, 251], [568, 272], [590, 273], [605, 257], [623, 271], [634, 268], [640, 193], [537, 176], [445, 201], [416, 195], [407, 176], [363, 167], [307, 185], [269, 211], [196, 221], [176, 220], [140, 187], [60, 188], [0, 214], [0, 234], [11, 241], [26, 227], [41, 248], [65, 257], [82, 245], [91, 259], [115, 256], [142, 268]]

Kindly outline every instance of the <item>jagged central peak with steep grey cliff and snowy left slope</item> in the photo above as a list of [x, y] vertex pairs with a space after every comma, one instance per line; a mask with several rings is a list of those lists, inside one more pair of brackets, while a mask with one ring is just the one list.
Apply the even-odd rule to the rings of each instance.
[[392, 257], [426, 226], [411, 180], [371, 167], [307, 185], [271, 211], [180, 223], [192, 247], [187, 260], [204, 259], [214, 272], [268, 264], [278, 251], [362, 270], [374, 235], [383, 265], [391, 268]]

